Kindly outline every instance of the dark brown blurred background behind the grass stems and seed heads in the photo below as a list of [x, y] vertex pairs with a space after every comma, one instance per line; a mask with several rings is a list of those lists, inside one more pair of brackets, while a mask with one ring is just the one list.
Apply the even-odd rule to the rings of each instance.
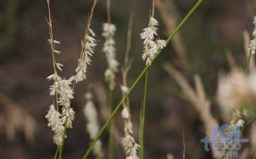
[[[159, 21], [161, 39], [168, 38], [195, 3], [196, 0], [156, 0], [155, 18]], [[62, 43], [56, 46], [62, 52], [56, 56], [57, 61], [64, 65], [61, 76], [68, 78], [74, 75], [92, 4], [93, 0], [50, 1], [54, 39]], [[143, 41], [139, 34], [148, 25], [150, 7], [151, 0], [111, 0], [112, 23], [117, 27], [115, 40], [120, 68], [124, 63], [129, 16], [132, 12], [135, 14], [130, 50], [134, 62], [128, 74], [128, 85], [133, 83], [145, 66], [141, 59]], [[149, 70], [144, 128], [145, 159], [166, 159], [168, 153], [173, 154], [175, 159], [182, 158], [182, 132], [186, 158], [211, 159], [211, 153], [205, 152], [200, 142], [206, 136], [200, 112], [184, 99], [183, 91], [163, 68], [163, 64], [171, 62], [172, 67], [179, 70], [193, 88], [193, 76], [200, 75], [207, 99], [211, 101], [212, 116], [220, 124], [226, 123], [216, 101], [218, 79], [220, 74], [231, 70], [232, 62], [244, 70], [247, 62], [244, 31], [251, 37], [255, 15], [254, 0], [205, 0], [162, 51]], [[52, 141], [53, 132], [47, 127], [45, 119], [48, 106], [52, 104], [52, 97], [49, 96], [49, 85], [52, 83], [46, 77], [53, 73], [45, 17], [48, 17], [46, 0], [0, 0], [0, 159], [50, 159], [56, 150]], [[85, 93], [90, 91], [94, 95], [94, 103], [101, 114], [100, 124], [106, 120], [103, 110], [107, 107], [108, 84], [104, 81], [107, 62], [102, 52], [103, 22], [107, 22], [106, 2], [99, 0], [91, 25], [95, 39], [99, 41], [92, 65], [88, 67], [87, 80], [76, 86], [75, 99], [71, 103], [76, 111], [76, 119], [73, 129], [67, 130], [64, 159], [80, 159], [90, 143], [82, 113]], [[143, 81], [130, 94], [137, 142]], [[113, 94], [114, 106], [121, 99], [121, 84], [120, 69]], [[120, 137], [123, 136], [120, 112], [114, 118], [117, 126], [115, 159], [125, 158], [120, 144]], [[247, 137], [250, 136], [250, 128], [248, 126], [244, 132]], [[103, 133], [101, 140], [107, 156], [108, 132]], [[250, 143], [244, 147], [250, 147]]]

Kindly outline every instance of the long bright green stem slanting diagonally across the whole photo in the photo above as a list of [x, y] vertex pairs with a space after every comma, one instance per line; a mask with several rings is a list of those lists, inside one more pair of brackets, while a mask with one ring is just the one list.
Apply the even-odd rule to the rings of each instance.
[[[185, 16], [185, 18], [180, 22], [180, 24], [178, 25], [178, 27], [176, 27], [175, 31], [173, 31], [173, 33], [169, 36], [169, 38], [166, 40], [167, 43], [170, 42], [170, 40], [174, 37], [174, 35], [180, 30], [180, 28], [184, 25], [184, 23], [188, 20], [188, 18], [191, 16], [191, 14], [198, 8], [198, 6], [202, 3], [203, 0], [198, 0], [198, 2], [194, 5], [194, 7], [189, 11], [189, 13]], [[155, 56], [155, 58], [153, 59], [152, 63], [154, 62], [154, 60], [157, 58], [157, 56], [159, 55], [159, 53], [161, 53], [162, 50], [158, 51], [158, 54]], [[102, 128], [99, 130], [98, 135], [95, 137], [94, 141], [91, 143], [90, 147], [88, 148], [88, 150], [86, 151], [85, 155], [83, 156], [83, 159], [87, 159], [88, 155], [90, 154], [93, 146], [95, 145], [96, 141], [99, 140], [99, 137], [101, 136], [101, 134], [103, 133], [103, 131], [107, 128], [108, 124], [110, 123], [110, 121], [112, 120], [112, 118], [116, 115], [117, 111], [119, 110], [119, 108], [122, 106], [123, 101], [126, 99], [126, 97], [128, 97], [130, 95], [130, 93], [132, 92], [132, 90], [135, 88], [136, 84], [138, 84], [139, 80], [141, 79], [141, 77], [145, 74], [145, 72], [148, 70], [150, 66], [146, 66], [144, 68], [144, 70], [139, 74], [139, 76], [137, 77], [137, 79], [135, 80], [135, 82], [131, 85], [130, 89], [128, 90], [128, 92], [126, 93], [126, 95], [121, 99], [121, 101], [118, 103], [117, 107], [113, 110], [113, 112], [111, 113], [111, 115], [108, 117], [107, 121], [105, 122], [105, 124], [103, 124]]]

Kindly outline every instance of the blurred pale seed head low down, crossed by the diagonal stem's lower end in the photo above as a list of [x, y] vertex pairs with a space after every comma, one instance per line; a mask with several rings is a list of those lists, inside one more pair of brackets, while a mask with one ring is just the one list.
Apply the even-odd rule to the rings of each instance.
[[[85, 98], [87, 102], [84, 107], [84, 115], [88, 121], [86, 124], [86, 130], [90, 135], [90, 139], [94, 140], [99, 132], [98, 113], [92, 101], [92, 94], [86, 93]], [[102, 142], [100, 140], [95, 143], [93, 152], [96, 159], [103, 159]]]

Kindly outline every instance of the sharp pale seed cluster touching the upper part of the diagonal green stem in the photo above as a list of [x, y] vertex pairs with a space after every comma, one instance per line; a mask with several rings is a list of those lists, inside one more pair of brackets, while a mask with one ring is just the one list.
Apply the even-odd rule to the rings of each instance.
[[148, 27], [143, 29], [140, 34], [140, 38], [144, 40], [144, 51], [142, 54], [143, 61], [146, 60], [146, 65], [151, 65], [152, 60], [158, 54], [159, 49], [166, 47], [166, 40], [154, 40], [154, 36], [157, 35], [158, 22], [155, 18], [150, 17]]

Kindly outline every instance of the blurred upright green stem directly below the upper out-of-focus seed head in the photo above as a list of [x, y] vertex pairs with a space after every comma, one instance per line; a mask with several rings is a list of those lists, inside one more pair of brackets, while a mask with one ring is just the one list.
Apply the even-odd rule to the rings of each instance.
[[[113, 91], [109, 88], [108, 91], [108, 106], [109, 106], [109, 112], [112, 112], [112, 93]], [[113, 145], [113, 139], [112, 139], [112, 126], [111, 126], [111, 122], [108, 125], [108, 132], [109, 132], [109, 136], [108, 136], [108, 159], [113, 159], [114, 158], [114, 145]]]

